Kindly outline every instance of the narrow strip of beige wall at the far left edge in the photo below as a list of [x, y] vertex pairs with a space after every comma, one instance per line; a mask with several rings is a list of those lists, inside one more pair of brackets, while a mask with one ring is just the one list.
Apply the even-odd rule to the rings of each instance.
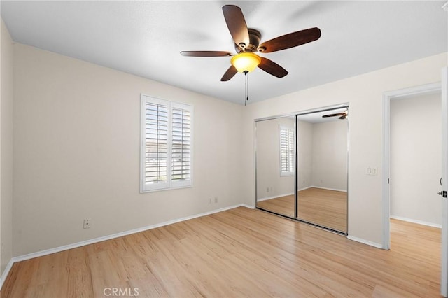
[[0, 276], [13, 256], [13, 41], [1, 20]]

